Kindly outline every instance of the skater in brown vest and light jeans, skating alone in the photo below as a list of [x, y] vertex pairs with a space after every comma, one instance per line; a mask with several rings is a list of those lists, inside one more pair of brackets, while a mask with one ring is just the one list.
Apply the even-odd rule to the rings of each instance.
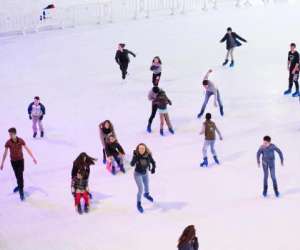
[[220, 164], [215, 150], [216, 132], [219, 135], [220, 140], [223, 140], [220, 130], [217, 128], [216, 124], [211, 120], [211, 114], [207, 113], [205, 115], [205, 122], [203, 123], [202, 130], [200, 132], [201, 135], [204, 134], [205, 136], [204, 145], [202, 149], [203, 162], [200, 164], [201, 167], [208, 166], [208, 159], [207, 159], [208, 147], [210, 147], [210, 151], [213, 155], [215, 163]]

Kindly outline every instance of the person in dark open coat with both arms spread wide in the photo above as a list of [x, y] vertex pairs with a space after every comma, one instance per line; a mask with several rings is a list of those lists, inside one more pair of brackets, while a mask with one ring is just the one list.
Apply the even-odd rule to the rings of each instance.
[[235, 47], [241, 46], [241, 42], [247, 42], [244, 38], [240, 37], [238, 34], [235, 32], [232, 32], [232, 29], [229, 27], [227, 28], [227, 33], [225, 36], [221, 39], [221, 43], [226, 41], [226, 49], [227, 49], [227, 54], [226, 54], [226, 59], [225, 62], [223, 63], [223, 66], [225, 66], [228, 63], [229, 56], [231, 58], [231, 63], [230, 67], [234, 66], [234, 59], [233, 59], [233, 51]]

